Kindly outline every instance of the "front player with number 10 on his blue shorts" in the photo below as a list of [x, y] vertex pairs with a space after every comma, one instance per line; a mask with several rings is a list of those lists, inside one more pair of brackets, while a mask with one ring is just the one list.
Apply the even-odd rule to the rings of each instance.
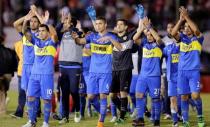
[[[42, 127], [49, 127], [49, 117], [51, 111], [51, 99], [54, 87], [54, 55], [56, 54], [55, 42], [57, 42], [56, 31], [52, 26], [41, 24], [39, 26], [39, 38], [36, 36], [26, 35], [26, 24], [35, 14], [35, 10], [29, 12], [24, 17], [23, 34], [26, 39], [34, 45], [34, 64], [32, 66], [31, 76], [29, 79], [27, 96], [28, 96], [28, 115], [29, 121], [23, 127], [34, 127], [35, 122], [35, 98], [42, 97], [44, 100], [44, 122]], [[49, 12], [41, 18], [41, 23], [46, 23], [49, 18]]]

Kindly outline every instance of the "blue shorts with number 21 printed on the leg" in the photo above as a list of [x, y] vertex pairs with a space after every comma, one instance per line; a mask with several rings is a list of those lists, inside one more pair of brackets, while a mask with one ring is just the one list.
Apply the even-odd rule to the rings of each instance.
[[160, 98], [160, 84], [160, 76], [139, 76], [136, 84], [136, 93], [146, 94], [147, 91], [149, 91], [149, 95], [151, 98]]

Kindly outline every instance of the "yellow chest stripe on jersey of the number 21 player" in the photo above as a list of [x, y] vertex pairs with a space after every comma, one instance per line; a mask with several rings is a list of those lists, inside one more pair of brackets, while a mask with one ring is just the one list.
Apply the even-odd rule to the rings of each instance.
[[154, 49], [146, 49], [146, 48], [143, 48], [143, 57], [144, 58], [153, 58], [153, 57], [159, 57], [161, 58], [162, 57], [162, 51], [160, 48], [156, 47]]

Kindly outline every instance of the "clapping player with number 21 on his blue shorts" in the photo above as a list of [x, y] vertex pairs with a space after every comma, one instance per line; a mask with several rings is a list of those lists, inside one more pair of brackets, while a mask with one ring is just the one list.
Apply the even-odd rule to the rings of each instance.
[[[139, 39], [144, 31], [146, 38]], [[139, 20], [139, 27], [133, 40], [143, 47], [143, 57], [141, 72], [136, 85], [136, 110], [137, 119], [133, 121], [133, 126], [144, 126], [144, 111], [146, 100], [144, 98], [147, 91], [152, 98], [152, 111], [154, 111], [154, 126], [160, 126], [160, 76], [162, 41], [158, 33], [152, 28], [150, 20], [145, 17]]]

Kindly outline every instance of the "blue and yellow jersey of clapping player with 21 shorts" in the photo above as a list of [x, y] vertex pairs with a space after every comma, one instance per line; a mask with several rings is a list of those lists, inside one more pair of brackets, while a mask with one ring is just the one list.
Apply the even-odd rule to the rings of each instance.
[[143, 56], [141, 64], [141, 76], [160, 76], [161, 58], [163, 45], [155, 42], [148, 42], [146, 38], [142, 39]]

